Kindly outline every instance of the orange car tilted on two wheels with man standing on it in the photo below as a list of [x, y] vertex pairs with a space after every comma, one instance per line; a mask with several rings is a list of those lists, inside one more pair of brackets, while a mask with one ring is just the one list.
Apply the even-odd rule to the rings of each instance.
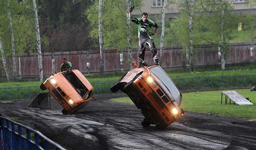
[[141, 122], [143, 127], [155, 125], [166, 128], [184, 111], [180, 108], [182, 95], [174, 82], [159, 65], [138, 67], [121, 77], [110, 90], [125, 92], [141, 109], [145, 116]]

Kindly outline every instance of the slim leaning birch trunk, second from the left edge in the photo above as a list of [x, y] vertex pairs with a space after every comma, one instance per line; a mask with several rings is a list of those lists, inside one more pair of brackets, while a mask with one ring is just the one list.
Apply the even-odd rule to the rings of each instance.
[[13, 78], [14, 80], [16, 80], [17, 68], [16, 68], [16, 56], [15, 56], [15, 44], [14, 44], [14, 38], [13, 38], [12, 15], [11, 15], [9, 0], [7, 0], [7, 11], [8, 11], [8, 17], [9, 17], [10, 32], [11, 32]]

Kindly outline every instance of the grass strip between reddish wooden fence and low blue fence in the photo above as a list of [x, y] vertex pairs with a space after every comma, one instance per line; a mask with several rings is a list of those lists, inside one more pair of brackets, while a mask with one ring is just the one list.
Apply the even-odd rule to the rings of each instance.
[[[227, 66], [226, 70], [220, 70], [220, 66], [205, 66], [196, 67], [192, 73], [189, 73], [186, 68], [167, 68], [166, 73], [172, 78], [185, 77], [202, 77], [202, 76], [226, 76], [226, 75], [249, 75], [256, 74], [256, 63], [236, 64]], [[115, 82], [124, 75], [126, 71], [111, 72], [111, 73], [93, 73], [86, 74], [86, 78], [91, 82]], [[16, 87], [16, 86], [40, 86], [41, 81], [18, 81], [18, 82], [3, 82], [0, 87]]]

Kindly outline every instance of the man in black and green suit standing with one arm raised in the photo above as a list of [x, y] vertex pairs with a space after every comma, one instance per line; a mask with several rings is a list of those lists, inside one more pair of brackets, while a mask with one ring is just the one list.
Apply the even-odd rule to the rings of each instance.
[[[129, 10], [129, 18], [132, 22], [138, 24], [138, 37], [139, 37], [139, 66], [144, 61], [146, 45], [152, 53], [152, 58], [154, 59], [154, 64], [159, 65], [158, 55], [155, 43], [153, 41], [152, 35], [157, 32], [158, 25], [150, 19], [147, 19], [147, 13], [142, 13], [142, 18], [132, 18], [131, 12], [134, 9], [132, 6]], [[151, 27], [155, 27], [154, 32], [151, 32]]]

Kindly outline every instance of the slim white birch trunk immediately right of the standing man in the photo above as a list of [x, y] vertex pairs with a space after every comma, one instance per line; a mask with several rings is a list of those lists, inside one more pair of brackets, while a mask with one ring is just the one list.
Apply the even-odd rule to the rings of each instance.
[[164, 6], [162, 9], [162, 30], [161, 30], [161, 43], [160, 43], [160, 65], [162, 65], [163, 61], [163, 51], [164, 51], [164, 33], [165, 33], [165, 8], [166, 8], [166, 0], [164, 0]]

